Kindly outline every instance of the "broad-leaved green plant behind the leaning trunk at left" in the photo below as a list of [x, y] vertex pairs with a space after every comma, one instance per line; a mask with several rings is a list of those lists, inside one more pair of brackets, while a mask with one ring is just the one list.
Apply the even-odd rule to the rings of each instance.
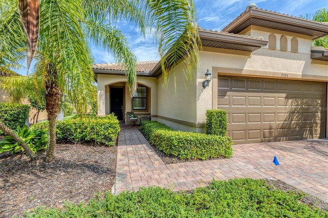
[[[48, 137], [45, 130], [31, 130], [28, 129], [27, 125], [24, 125], [23, 128], [18, 126], [15, 132], [31, 148], [34, 154], [47, 147]], [[6, 151], [11, 151], [12, 154], [15, 154], [23, 153], [24, 149], [13, 139], [13, 137], [6, 136], [4, 140], [0, 141], [0, 154]]]

